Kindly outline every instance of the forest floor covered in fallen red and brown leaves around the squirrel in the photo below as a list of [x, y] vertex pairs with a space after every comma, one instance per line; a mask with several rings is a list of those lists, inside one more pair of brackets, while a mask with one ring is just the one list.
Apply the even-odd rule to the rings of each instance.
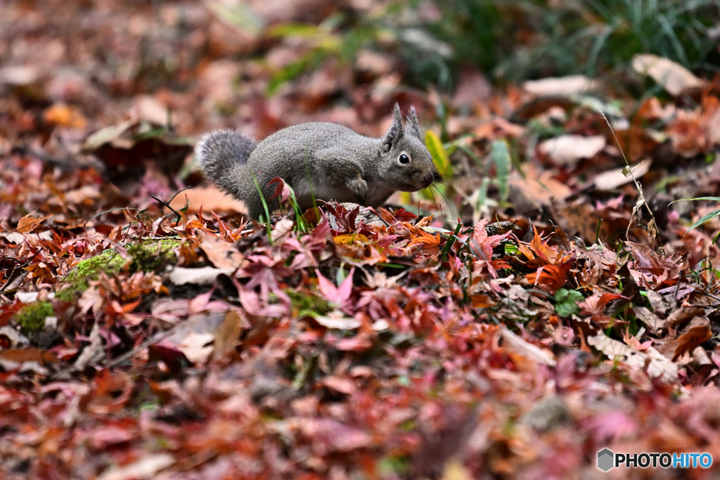
[[[0, 476], [720, 471], [720, 217], [671, 204], [720, 194], [718, 81], [644, 57], [640, 99], [471, 68], [438, 94], [365, 51], [269, 95], [307, 43], [203, 4], [3, 9]], [[326, 204], [258, 225], [194, 167], [207, 130], [379, 136], [396, 101], [444, 183], [382, 222]], [[603, 448], [716, 463], [605, 474]]]

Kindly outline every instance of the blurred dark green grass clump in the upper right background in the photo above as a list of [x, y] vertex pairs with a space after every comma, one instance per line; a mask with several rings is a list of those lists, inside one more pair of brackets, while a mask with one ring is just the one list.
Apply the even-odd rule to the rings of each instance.
[[569, 73], [595, 76], [654, 53], [717, 71], [720, 14], [714, 0], [436, 0], [443, 12], [429, 26], [470, 61], [518, 81]]

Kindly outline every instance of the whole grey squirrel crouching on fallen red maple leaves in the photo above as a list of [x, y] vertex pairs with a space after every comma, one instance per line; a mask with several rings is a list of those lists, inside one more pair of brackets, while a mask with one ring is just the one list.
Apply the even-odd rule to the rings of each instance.
[[216, 130], [202, 137], [195, 158], [213, 184], [243, 201], [258, 219], [279, 208], [270, 200], [271, 179], [292, 187], [301, 211], [314, 200], [351, 201], [379, 207], [395, 191], [418, 191], [440, 178], [433, 157], [420, 137], [415, 108], [402, 124], [395, 104], [392, 125], [382, 138], [365, 137], [329, 122], [308, 122], [278, 130], [259, 143], [234, 130]]

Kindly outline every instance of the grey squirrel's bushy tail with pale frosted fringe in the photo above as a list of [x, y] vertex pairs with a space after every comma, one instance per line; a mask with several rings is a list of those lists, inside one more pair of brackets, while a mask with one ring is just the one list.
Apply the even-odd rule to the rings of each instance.
[[206, 133], [195, 145], [195, 158], [207, 178], [225, 191], [234, 191], [228, 184], [232, 173], [245, 165], [255, 150], [256, 142], [234, 130]]

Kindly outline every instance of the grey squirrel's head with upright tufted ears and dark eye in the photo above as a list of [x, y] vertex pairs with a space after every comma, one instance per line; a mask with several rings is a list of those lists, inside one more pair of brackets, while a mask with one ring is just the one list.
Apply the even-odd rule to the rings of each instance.
[[415, 107], [402, 125], [400, 105], [392, 111], [392, 125], [380, 143], [379, 168], [384, 182], [401, 191], [418, 191], [426, 188], [439, 178], [433, 155], [430, 154], [420, 137], [420, 124]]

